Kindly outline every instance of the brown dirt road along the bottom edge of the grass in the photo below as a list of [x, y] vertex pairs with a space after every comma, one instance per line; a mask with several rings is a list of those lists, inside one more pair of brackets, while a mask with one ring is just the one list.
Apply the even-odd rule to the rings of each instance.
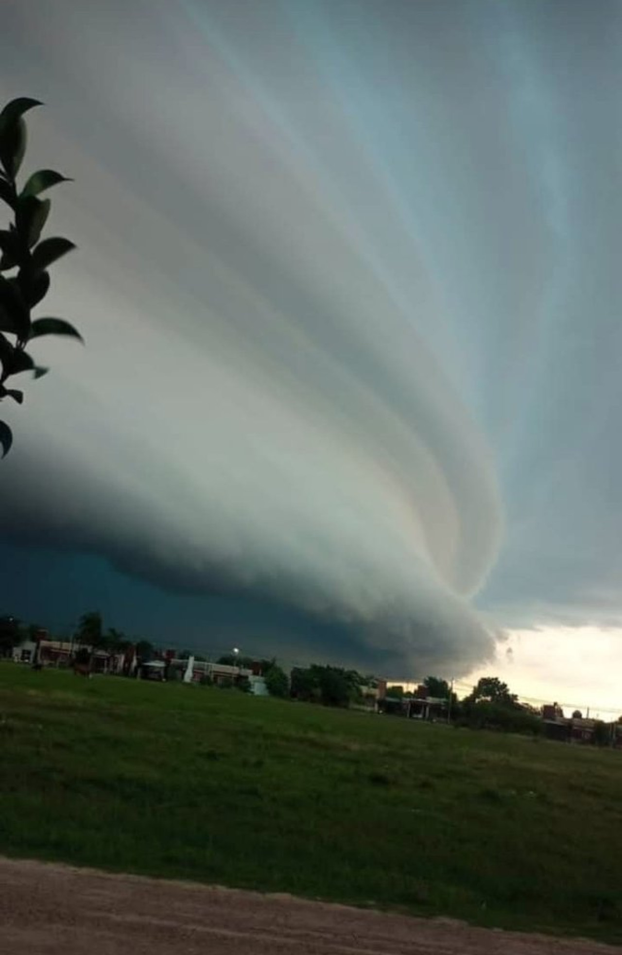
[[0, 859], [1, 955], [612, 955], [622, 948]]

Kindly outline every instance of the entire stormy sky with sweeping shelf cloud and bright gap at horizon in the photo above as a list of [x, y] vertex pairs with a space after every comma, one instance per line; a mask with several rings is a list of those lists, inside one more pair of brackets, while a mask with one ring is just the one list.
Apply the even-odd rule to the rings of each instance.
[[612, 0], [9, 0], [87, 347], [3, 404], [0, 611], [622, 711], [621, 38]]

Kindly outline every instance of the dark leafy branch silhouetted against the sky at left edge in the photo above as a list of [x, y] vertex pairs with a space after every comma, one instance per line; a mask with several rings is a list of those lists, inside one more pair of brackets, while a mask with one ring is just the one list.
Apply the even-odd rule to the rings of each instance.
[[[21, 190], [17, 185], [26, 152], [24, 116], [40, 105], [37, 99], [22, 96], [12, 99], [0, 113], [0, 202], [8, 206], [11, 216], [9, 227], [0, 229], [0, 401], [11, 398], [20, 405], [24, 393], [7, 388], [9, 378], [22, 371], [32, 371], [34, 378], [40, 378], [48, 371], [35, 365], [26, 351], [29, 343], [42, 335], [68, 335], [82, 341], [74, 326], [64, 319], [32, 319], [31, 314], [50, 288], [50, 265], [75, 248], [68, 239], [59, 237], [39, 241], [51, 205], [49, 199], [39, 196], [67, 178], [53, 169], [41, 169], [32, 173]], [[0, 421], [3, 457], [11, 444], [11, 428]]]

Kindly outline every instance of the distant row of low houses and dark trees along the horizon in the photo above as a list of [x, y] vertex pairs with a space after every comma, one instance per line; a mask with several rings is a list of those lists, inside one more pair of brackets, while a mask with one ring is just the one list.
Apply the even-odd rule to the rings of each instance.
[[276, 659], [243, 654], [238, 647], [215, 660], [192, 650], [156, 647], [104, 630], [101, 615], [84, 614], [70, 639], [54, 639], [43, 627], [0, 618], [0, 658], [37, 670], [73, 669], [76, 676], [118, 676], [155, 682], [178, 681], [254, 696], [277, 696], [321, 706], [440, 722], [456, 728], [513, 732], [558, 742], [622, 750], [622, 716], [605, 721], [589, 711], [566, 712], [553, 702], [533, 706], [519, 700], [495, 676], [481, 678], [459, 698], [453, 685], [427, 676], [413, 690], [355, 669], [312, 664], [281, 667]]

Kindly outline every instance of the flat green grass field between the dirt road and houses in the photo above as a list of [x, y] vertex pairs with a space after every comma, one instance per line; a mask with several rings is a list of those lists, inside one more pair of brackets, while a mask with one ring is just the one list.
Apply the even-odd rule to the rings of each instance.
[[0, 853], [622, 942], [622, 753], [0, 665]]

